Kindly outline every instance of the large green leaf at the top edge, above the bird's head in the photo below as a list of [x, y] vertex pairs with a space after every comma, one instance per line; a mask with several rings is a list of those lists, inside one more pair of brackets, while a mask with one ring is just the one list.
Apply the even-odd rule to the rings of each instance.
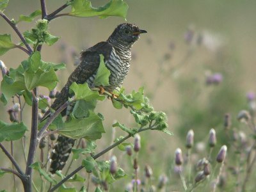
[[128, 5], [123, 0], [111, 0], [99, 8], [94, 8], [88, 0], [74, 0], [71, 6], [72, 12], [68, 13], [68, 15], [76, 17], [99, 16], [102, 19], [109, 16], [123, 17], [125, 19], [128, 10]]

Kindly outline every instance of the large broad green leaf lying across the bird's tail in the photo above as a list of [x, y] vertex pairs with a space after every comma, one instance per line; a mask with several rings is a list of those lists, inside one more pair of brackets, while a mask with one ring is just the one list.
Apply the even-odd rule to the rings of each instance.
[[87, 118], [72, 118], [65, 123], [65, 128], [58, 131], [68, 138], [86, 138], [87, 140], [97, 140], [104, 131], [102, 120], [98, 115], [90, 111]]

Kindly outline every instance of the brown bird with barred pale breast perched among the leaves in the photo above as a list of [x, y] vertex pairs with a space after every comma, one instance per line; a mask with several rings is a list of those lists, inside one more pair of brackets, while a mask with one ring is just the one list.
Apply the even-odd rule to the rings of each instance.
[[[68, 77], [68, 81], [56, 97], [51, 108], [57, 110], [70, 97], [69, 87], [72, 83], [87, 83], [90, 88], [95, 87], [94, 79], [100, 64], [100, 54], [104, 56], [104, 63], [110, 71], [109, 85], [104, 90], [113, 92], [120, 88], [127, 76], [131, 64], [132, 45], [140, 38], [140, 34], [147, 31], [138, 28], [135, 24], [123, 23], [116, 26], [113, 33], [105, 42], [98, 44], [81, 52], [80, 63]], [[61, 116], [67, 115], [67, 109], [61, 112]], [[49, 116], [49, 113], [45, 113]], [[44, 118], [43, 118], [44, 119]], [[75, 140], [65, 136], [58, 136], [56, 144], [51, 152], [51, 166], [49, 171], [56, 173], [62, 170], [67, 162], [68, 156], [74, 147]]]

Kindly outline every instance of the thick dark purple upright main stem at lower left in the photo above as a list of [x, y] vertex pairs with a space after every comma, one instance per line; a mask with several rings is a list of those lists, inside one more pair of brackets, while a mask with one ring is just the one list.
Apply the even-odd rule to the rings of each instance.
[[34, 88], [32, 92], [33, 103], [32, 103], [32, 119], [31, 119], [31, 136], [29, 143], [29, 153], [28, 161], [26, 166], [26, 175], [29, 176], [29, 191], [31, 190], [31, 181], [32, 181], [32, 168], [30, 167], [33, 164], [34, 156], [36, 153], [36, 143], [37, 143], [37, 129], [38, 129], [38, 88]]

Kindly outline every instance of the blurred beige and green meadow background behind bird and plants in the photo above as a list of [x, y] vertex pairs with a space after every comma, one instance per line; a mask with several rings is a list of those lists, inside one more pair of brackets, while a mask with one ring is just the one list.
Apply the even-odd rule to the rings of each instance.
[[[100, 6], [106, 2], [108, 1], [92, 1], [92, 4]], [[46, 3], [50, 13], [65, 1]], [[144, 86], [145, 95], [149, 97], [155, 110], [164, 111], [168, 115], [168, 129], [174, 136], [152, 131], [141, 133], [140, 174], [143, 175], [145, 164], [150, 164], [157, 180], [162, 173], [170, 175], [173, 172], [175, 148], [185, 148], [189, 129], [195, 132], [195, 144], [202, 144], [202, 141], [207, 143], [209, 130], [214, 128], [218, 145], [227, 145], [222, 134], [224, 115], [229, 113], [232, 125], [239, 126], [237, 113], [241, 109], [253, 108], [248, 106], [246, 95], [253, 95], [256, 91], [256, 1], [129, 0], [127, 4], [127, 21], [118, 17], [60, 17], [52, 20], [49, 31], [61, 39], [51, 47], [43, 47], [42, 60], [67, 64], [66, 70], [58, 72], [60, 83], [57, 88], [61, 90], [75, 68], [74, 63], [78, 62], [79, 52], [106, 40], [118, 24], [131, 22], [148, 31], [141, 35], [132, 48], [131, 70], [124, 87], [129, 93]], [[4, 13], [10, 18], [18, 19], [19, 15], [29, 15], [36, 9], [40, 9], [40, 1], [12, 0]], [[68, 9], [63, 10], [63, 13], [66, 12]], [[26, 31], [34, 24], [35, 22], [20, 22], [19, 29]], [[3, 19], [0, 19], [0, 26], [1, 34], [11, 34], [13, 41], [18, 41]], [[13, 49], [1, 56], [0, 60], [7, 67], [16, 68], [26, 58], [24, 52]], [[40, 92], [48, 94], [44, 89]], [[9, 105], [3, 106], [0, 103], [1, 120], [5, 122], [9, 121], [6, 112], [8, 108]], [[25, 110], [29, 120], [31, 108], [26, 106]], [[115, 120], [129, 127], [135, 126], [129, 110], [114, 109], [110, 100], [99, 102], [97, 111], [105, 116], [106, 130], [103, 139], [97, 143], [99, 151], [111, 143], [111, 125]], [[29, 127], [28, 120], [25, 123]], [[115, 134], [117, 137], [124, 133], [116, 131]], [[15, 143], [19, 147], [19, 141]], [[123, 152], [118, 149], [113, 154], [128, 172], [126, 179], [113, 186], [113, 191], [118, 191], [121, 184], [126, 184], [131, 179], [131, 164], [124, 160]], [[17, 152], [15, 158], [19, 160], [20, 155]], [[4, 159], [1, 166], [8, 166], [3, 153], [0, 156]], [[108, 159], [108, 155], [104, 158]], [[72, 170], [76, 167], [76, 163], [72, 164]], [[10, 176], [10, 180], [11, 178]], [[170, 179], [172, 189], [179, 190], [180, 184], [173, 182]], [[8, 189], [1, 179], [0, 189], [2, 188], [9, 191], [12, 186]]]

